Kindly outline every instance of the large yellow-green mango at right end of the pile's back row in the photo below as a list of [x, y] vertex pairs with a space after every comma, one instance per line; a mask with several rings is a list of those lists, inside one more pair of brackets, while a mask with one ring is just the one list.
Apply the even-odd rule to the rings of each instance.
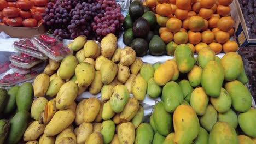
[[243, 61], [236, 52], [226, 53], [220, 59], [220, 64], [224, 68], [224, 77], [226, 81], [235, 80], [243, 71]]

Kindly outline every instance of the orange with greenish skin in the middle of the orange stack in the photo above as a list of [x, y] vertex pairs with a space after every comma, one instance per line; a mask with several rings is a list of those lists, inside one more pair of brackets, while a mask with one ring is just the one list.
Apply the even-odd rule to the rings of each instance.
[[200, 16], [192, 16], [189, 18], [188, 27], [191, 31], [199, 32], [205, 26], [205, 21]]

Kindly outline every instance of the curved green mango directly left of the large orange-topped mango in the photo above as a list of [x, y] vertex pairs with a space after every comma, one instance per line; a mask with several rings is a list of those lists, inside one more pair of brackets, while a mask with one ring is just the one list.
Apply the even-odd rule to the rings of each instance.
[[156, 103], [153, 115], [156, 130], [159, 134], [167, 136], [172, 127], [172, 115], [165, 110], [162, 101]]

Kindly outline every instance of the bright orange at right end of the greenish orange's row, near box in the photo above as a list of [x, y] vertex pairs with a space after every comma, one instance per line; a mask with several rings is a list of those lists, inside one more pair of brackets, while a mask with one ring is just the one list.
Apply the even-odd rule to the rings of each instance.
[[217, 22], [217, 28], [225, 32], [228, 32], [230, 29], [232, 29], [234, 25], [235, 22], [230, 16], [224, 16]]

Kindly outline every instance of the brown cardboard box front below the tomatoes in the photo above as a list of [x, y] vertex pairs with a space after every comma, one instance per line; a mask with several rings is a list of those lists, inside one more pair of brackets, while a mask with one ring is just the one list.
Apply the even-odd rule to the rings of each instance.
[[46, 33], [46, 28], [43, 24], [38, 27], [10, 27], [5, 25], [0, 25], [0, 32], [4, 31], [10, 37], [13, 38], [32, 38], [34, 35]]

